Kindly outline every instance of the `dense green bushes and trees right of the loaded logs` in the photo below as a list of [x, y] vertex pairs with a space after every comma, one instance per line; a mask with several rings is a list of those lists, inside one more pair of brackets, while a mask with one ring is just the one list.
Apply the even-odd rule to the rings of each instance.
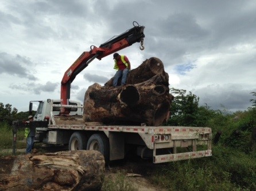
[[[213, 135], [221, 132], [220, 144], [230, 146], [243, 152], [253, 150], [252, 130], [256, 128], [256, 108], [245, 112], [223, 114], [220, 110], [211, 110], [210, 106], [199, 107], [199, 97], [186, 90], [170, 89], [176, 95], [172, 102], [172, 114], [167, 125], [172, 126], [208, 126]], [[256, 93], [253, 92], [254, 95]], [[256, 100], [253, 101], [254, 105]], [[253, 106], [254, 106], [253, 105]]]

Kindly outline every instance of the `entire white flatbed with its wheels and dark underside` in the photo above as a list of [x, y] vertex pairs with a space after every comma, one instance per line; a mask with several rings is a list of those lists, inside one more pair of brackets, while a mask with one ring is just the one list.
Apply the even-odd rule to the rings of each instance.
[[[81, 149], [79, 144], [86, 145], [83, 149], [99, 150], [110, 161], [125, 158], [125, 152], [130, 146], [135, 146], [138, 156], [152, 157], [153, 163], [212, 155], [211, 128], [82, 123], [57, 125], [53, 120], [52, 125], [41, 130], [48, 133], [45, 141], [48, 144], [69, 144], [69, 150]], [[108, 153], [104, 153], [102, 148], [106, 148], [104, 150]]]

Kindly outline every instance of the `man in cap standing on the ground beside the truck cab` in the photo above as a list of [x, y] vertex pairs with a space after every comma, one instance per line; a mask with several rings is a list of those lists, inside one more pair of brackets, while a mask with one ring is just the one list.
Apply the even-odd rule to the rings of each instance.
[[26, 137], [26, 154], [32, 153], [34, 146], [34, 136], [36, 136], [36, 127], [32, 125], [33, 116], [29, 116], [29, 121], [26, 121], [25, 137]]

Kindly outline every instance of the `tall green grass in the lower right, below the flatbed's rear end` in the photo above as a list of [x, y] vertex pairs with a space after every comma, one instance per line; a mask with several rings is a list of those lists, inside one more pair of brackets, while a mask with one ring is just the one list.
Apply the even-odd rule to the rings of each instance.
[[170, 162], [152, 177], [169, 190], [256, 190], [255, 158], [223, 146], [212, 157]]

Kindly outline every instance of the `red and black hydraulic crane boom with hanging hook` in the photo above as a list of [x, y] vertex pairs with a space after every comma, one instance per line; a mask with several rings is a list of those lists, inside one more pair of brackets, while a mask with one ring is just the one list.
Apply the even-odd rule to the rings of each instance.
[[[137, 22], [133, 22], [134, 23]], [[138, 23], [137, 23], [138, 25]], [[143, 38], [145, 37], [143, 30], [144, 26], [135, 26], [125, 33], [118, 35], [113, 39], [103, 43], [99, 47], [91, 46], [90, 51], [84, 51], [79, 58], [69, 67], [63, 76], [61, 81], [61, 89], [60, 89], [60, 99], [62, 105], [69, 105], [70, 98], [70, 88], [71, 83], [75, 79], [76, 75], [79, 74], [83, 69], [85, 69], [88, 64], [95, 58], [99, 60], [107, 55], [114, 53], [115, 51], [125, 49], [127, 46], [133, 45], [135, 42], [141, 42], [140, 49], [143, 50]], [[69, 109], [61, 108], [60, 115], [68, 116]]]

